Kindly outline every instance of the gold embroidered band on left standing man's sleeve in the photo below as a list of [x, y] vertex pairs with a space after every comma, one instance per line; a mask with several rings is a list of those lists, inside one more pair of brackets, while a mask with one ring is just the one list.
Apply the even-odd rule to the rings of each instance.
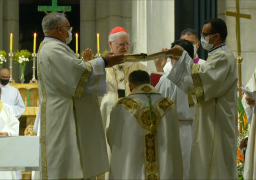
[[83, 74], [80, 78], [80, 81], [76, 87], [75, 97], [81, 99], [83, 91], [85, 91], [86, 84], [92, 73], [92, 65], [90, 63], [85, 63], [86, 69], [83, 71]]

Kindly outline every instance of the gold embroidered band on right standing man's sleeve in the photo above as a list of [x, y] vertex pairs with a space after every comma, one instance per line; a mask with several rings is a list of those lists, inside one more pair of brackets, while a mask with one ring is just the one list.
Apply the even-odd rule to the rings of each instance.
[[200, 76], [198, 74], [199, 68], [199, 64], [193, 64], [191, 69], [191, 76], [195, 87], [195, 96], [197, 103], [204, 102], [204, 89]]

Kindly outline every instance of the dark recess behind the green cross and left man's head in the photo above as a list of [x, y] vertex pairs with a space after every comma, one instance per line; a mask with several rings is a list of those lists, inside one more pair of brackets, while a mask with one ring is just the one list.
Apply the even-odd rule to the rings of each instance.
[[[33, 33], [37, 33], [36, 51], [44, 38], [41, 22], [45, 12], [38, 12], [38, 6], [52, 6], [52, 1], [19, 0], [19, 50], [33, 52]], [[58, 0], [58, 6], [71, 6], [71, 12], [66, 12], [66, 15], [73, 27], [72, 34], [80, 32], [80, 0]], [[75, 50], [75, 40], [69, 45]], [[32, 79], [32, 65], [32, 61], [27, 63], [24, 83]]]

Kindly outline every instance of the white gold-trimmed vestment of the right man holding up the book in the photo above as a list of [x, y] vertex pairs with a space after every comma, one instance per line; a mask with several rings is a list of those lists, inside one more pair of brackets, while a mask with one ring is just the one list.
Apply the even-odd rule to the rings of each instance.
[[184, 51], [168, 78], [196, 103], [190, 179], [237, 179], [237, 61], [226, 45], [204, 64]]

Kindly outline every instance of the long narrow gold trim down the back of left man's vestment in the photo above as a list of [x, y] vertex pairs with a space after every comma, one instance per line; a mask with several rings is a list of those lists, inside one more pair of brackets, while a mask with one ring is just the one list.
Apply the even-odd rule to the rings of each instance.
[[[41, 48], [43, 47], [43, 45], [45, 45], [46, 43], [51, 42], [52, 40], [49, 40], [47, 42], [42, 42], [40, 44], [40, 47], [38, 49], [38, 54], [41, 50]], [[46, 157], [46, 91], [45, 91], [45, 84], [43, 83], [43, 79], [42, 79], [42, 74], [41, 74], [41, 70], [40, 70], [40, 65], [39, 63], [37, 63], [37, 70], [38, 70], [38, 83], [41, 86], [41, 91], [42, 91], [42, 95], [43, 95], [43, 99], [41, 102], [41, 131], [40, 131], [40, 143], [41, 143], [41, 147], [42, 147], [42, 179], [48, 179], [48, 171], [47, 171], [47, 157]]]

